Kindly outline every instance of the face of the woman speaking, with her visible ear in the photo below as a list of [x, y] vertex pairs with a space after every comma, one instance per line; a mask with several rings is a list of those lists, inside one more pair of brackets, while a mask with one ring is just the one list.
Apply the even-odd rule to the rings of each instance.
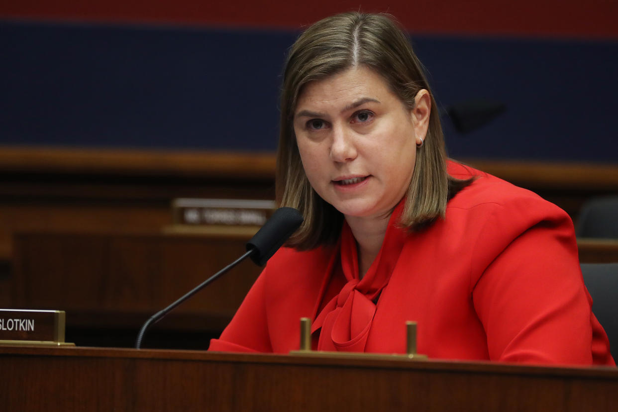
[[[410, 110], [367, 67], [308, 83], [294, 132], [313, 189], [347, 217], [388, 216], [405, 195], [425, 138], [426, 113]], [[426, 117], [426, 119], [425, 119]]]

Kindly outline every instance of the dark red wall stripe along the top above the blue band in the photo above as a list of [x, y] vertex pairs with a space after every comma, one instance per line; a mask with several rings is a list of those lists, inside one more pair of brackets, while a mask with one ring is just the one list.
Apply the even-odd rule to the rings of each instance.
[[299, 28], [337, 12], [390, 12], [414, 33], [618, 39], [616, 0], [19, 0], [0, 17]]

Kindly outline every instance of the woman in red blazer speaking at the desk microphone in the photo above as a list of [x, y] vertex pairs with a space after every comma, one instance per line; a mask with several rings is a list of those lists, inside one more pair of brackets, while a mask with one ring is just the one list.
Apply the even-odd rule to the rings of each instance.
[[287, 59], [277, 199], [305, 222], [210, 350], [313, 347], [614, 364], [572, 223], [530, 191], [447, 162], [421, 64], [384, 15], [321, 20]]

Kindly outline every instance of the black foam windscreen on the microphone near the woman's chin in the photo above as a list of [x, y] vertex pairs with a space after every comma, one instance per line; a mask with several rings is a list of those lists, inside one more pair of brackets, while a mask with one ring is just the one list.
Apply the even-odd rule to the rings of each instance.
[[294, 208], [279, 208], [265, 225], [247, 242], [247, 250], [252, 250], [252, 261], [263, 266], [268, 259], [300, 227], [303, 215]]

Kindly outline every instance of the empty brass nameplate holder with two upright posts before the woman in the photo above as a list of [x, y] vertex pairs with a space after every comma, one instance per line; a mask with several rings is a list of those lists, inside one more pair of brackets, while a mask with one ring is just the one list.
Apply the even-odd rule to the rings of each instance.
[[426, 360], [427, 355], [417, 353], [417, 322], [405, 322], [406, 353], [359, 353], [359, 352], [329, 352], [311, 350], [311, 319], [300, 318], [300, 350], [290, 351], [290, 355], [323, 356], [326, 358], [361, 358], [361, 359], [410, 359], [413, 361]]

